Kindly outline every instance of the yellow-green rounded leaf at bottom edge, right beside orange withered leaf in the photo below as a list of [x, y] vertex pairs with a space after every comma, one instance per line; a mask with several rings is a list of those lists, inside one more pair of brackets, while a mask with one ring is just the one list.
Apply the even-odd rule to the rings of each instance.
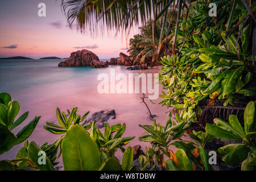
[[184, 150], [178, 149], [175, 152], [175, 155], [176, 155], [177, 161], [180, 165], [181, 171], [193, 171], [192, 164], [189, 162], [188, 157], [187, 157], [186, 153], [184, 152]]

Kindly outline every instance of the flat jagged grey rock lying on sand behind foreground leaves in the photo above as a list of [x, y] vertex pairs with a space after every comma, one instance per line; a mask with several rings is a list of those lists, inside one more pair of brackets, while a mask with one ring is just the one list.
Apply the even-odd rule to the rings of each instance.
[[96, 113], [93, 113], [92, 117], [90, 117], [87, 121], [87, 123], [96, 121], [95, 126], [100, 129], [105, 126], [105, 122], [109, 120], [109, 118], [112, 116], [111, 119], [115, 119], [115, 110], [101, 110]]

